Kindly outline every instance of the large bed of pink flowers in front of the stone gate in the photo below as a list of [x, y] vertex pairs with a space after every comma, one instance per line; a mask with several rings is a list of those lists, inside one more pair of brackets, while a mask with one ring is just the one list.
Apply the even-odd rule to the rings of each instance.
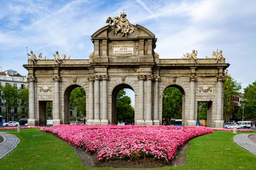
[[40, 130], [97, 154], [100, 161], [146, 157], [169, 162], [189, 139], [213, 133], [203, 126], [55, 125]]

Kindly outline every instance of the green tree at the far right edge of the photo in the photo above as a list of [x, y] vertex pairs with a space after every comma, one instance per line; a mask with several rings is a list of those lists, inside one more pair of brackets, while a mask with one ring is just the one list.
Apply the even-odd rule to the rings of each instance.
[[[244, 88], [244, 98], [241, 106], [244, 105], [244, 120], [256, 118], [256, 81]], [[242, 120], [243, 107], [239, 108], [236, 117]]]

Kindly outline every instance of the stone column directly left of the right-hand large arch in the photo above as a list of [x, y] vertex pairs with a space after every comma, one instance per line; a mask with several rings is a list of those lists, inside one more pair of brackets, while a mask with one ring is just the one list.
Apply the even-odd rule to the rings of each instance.
[[153, 114], [153, 125], [160, 125], [159, 120], [159, 81], [160, 77], [155, 77], [155, 86], [154, 86], [154, 114]]

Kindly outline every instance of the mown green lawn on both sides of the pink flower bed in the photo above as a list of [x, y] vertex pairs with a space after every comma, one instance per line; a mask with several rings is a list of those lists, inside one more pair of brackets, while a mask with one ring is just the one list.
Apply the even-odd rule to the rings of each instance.
[[[0, 130], [16, 132], [17, 130]], [[245, 133], [245, 132], [238, 132]], [[247, 132], [256, 133], [256, 132]], [[17, 148], [0, 159], [4, 170], [102, 170], [84, 166], [69, 144], [39, 129], [22, 129], [12, 133], [20, 138]], [[35, 136], [46, 134], [45, 136]], [[233, 142], [233, 132], [214, 131], [192, 139], [186, 152], [187, 163], [159, 170], [254, 170], [256, 156]], [[130, 169], [130, 168], [127, 168]]]

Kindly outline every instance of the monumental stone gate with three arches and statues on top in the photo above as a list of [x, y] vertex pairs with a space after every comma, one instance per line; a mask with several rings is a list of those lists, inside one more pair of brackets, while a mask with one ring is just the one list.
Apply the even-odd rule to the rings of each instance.
[[70, 123], [70, 93], [86, 93], [87, 125], [116, 123], [116, 94], [135, 93], [135, 125], [161, 125], [163, 91], [176, 87], [183, 94], [182, 125], [196, 125], [198, 102], [207, 102], [207, 126], [223, 127], [225, 63], [222, 51], [198, 59], [197, 51], [182, 59], [159, 59], [157, 38], [140, 25], [131, 25], [123, 12], [109, 17], [108, 26], [91, 37], [89, 59], [73, 60], [58, 51], [54, 59], [31, 51], [24, 67], [29, 72], [29, 126], [46, 125], [46, 103], [53, 104], [53, 124]]

